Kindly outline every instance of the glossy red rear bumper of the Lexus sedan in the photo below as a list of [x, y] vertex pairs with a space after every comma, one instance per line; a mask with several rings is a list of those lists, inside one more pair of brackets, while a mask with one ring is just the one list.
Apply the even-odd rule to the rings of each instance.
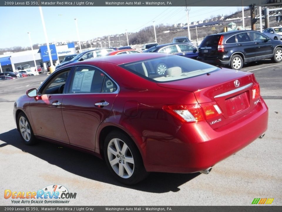
[[213, 130], [207, 122], [188, 123], [174, 138], [143, 138], [147, 171], [193, 173], [212, 167], [259, 138], [266, 130], [268, 108], [261, 98], [255, 110]]

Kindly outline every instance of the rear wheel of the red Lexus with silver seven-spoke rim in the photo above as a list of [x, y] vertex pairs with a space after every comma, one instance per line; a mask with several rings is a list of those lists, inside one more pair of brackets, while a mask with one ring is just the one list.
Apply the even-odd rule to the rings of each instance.
[[122, 132], [112, 131], [106, 136], [104, 156], [111, 173], [123, 184], [136, 184], [148, 175], [135, 143]]

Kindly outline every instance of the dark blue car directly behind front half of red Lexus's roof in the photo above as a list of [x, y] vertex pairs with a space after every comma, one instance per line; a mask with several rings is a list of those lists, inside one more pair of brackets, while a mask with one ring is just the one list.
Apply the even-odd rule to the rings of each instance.
[[113, 52], [113, 51], [115, 51], [115, 49], [108, 48], [108, 49], [91, 49], [91, 50], [88, 50], [88, 51], [85, 51], [85, 52], [81, 52], [80, 54], [76, 55], [70, 61], [57, 65], [55, 70], [61, 68], [64, 65], [70, 64], [70, 63], [83, 61], [83, 60], [86, 60], [86, 59], [92, 59], [92, 58], [95, 58], [95, 57], [105, 56], [109, 52]]

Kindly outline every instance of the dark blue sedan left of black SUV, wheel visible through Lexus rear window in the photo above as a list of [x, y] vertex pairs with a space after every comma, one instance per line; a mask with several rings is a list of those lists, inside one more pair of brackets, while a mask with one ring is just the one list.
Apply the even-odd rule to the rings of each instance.
[[[189, 57], [192, 59], [196, 59], [198, 57], [198, 49], [185, 43], [170, 43], [170, 44], [162, 44], [158, 46], [151, 47], [150, 49], [145, 50], [144, 52], [161, 52], [161, 53], [169, 53], [176, 54], [183, 57]], [[167, 70], [166, 64], [158, 63], [156, 61], [156, 66], [154, 67], [156, 74], [165, 74]]]

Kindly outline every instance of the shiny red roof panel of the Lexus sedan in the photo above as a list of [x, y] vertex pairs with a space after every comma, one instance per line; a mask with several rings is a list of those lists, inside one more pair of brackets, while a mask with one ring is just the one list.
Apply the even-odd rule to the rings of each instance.
[[137, 62], [137, 61], [142, 61], [142, 60], [147, 60], [147, 59], [154, 59], [158, 57], [179, 57], [177, 55], [173, 54], [166, 54], [166, 53], [157, 53], [157, 54], [152, 54], [152, 53], [141, 53], [141, 54], [117, 54], [113, 56], [104, 56], [104, 57], [96, 57], [93, 59], [81, 61], [81, 62], [76, 62], [76, 63], [70, 63], [67, 64], [64, 67], [67, 66], [72, 66], [76, 64], [94, 64], [95, 62], [108, 62], [108, 63], [113, 63], [116, 65], [121, 65], [125, 63], [130, 63], [130, 62]]

